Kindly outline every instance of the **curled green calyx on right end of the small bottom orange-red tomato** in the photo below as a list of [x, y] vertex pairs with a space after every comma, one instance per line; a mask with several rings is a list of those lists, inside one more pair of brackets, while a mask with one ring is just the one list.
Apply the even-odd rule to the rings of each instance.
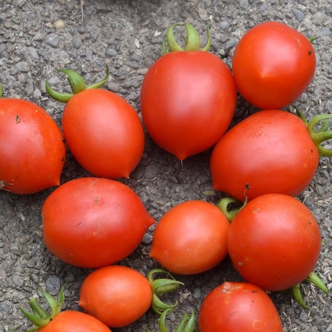
[[[167, 274], [170, 279], [154, 279], [154, 275], [157, 273]], [[151, 270], [147, 275], [147, 280], [149, 281], [152, 289], [151, 308], [156, 314], [161, 316], [165, 310], [174, 310], [178, 306], [178, 301], [174, 302], [173, 304], [167, 304], [161, 301], [158, 295], [162, 295], [179, 289], [180, 286], [184, 285], [183, 282], [176, 280], [168, 271], [162, 269]]]

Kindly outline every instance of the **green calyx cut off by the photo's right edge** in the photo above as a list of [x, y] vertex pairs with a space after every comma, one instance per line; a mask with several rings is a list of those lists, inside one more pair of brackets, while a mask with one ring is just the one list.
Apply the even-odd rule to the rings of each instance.
[[[319, 155], [321, 157], [331, 157], [332, 150], [326, 149], [321, 145], [321, 143], [332, 139], [332, 130], [329, 130], [331, 122], [326, 119], [332, 119], [332, 114], [319, 114], [314, 116], [310, 121], [307, 121], [303, 113], [301, 113], [296, 107], [297, 116], [305, 123], [307, 126], [309, 135], [313, 142], [316, 144]], [[320, 127], [318, 129], [314, 129], [317, 125]]]

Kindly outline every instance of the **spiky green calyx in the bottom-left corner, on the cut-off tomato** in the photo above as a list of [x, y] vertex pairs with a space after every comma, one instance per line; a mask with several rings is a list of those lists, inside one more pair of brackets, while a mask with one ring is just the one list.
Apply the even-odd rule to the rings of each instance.
[[44, 310], [35, 297], [28, 302], [32, 309], [32, 313], [20, 307], [20, 310], [26, 316], [26, 318], [28, 318], [28, 320], [35, 325], [35, 327], [29, 329], [27, 332], [34, 332], [39, 328], [46, 326], [61, 311], [61, 306], [64, 300], [63, 290], [64, 285], [60, 289], [57, 300], [48, 292], [45, 292], [41, 289], [39, 290], [46, 299], [51, 309], [51, 313], [48, 313], [46, 310]]

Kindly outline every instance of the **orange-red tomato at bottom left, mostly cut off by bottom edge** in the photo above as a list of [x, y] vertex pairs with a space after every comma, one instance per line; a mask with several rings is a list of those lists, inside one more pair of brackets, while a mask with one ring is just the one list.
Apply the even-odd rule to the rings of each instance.
[[39, 332], [112, 332], [104, 323], [87, 313], [67, 310], [58, 313]]

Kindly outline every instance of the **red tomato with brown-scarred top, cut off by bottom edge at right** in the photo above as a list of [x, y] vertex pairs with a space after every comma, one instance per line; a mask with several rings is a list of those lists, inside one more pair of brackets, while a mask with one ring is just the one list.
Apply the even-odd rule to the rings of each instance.
[[282, 332], [278, 311], [261, 288], [225, 282], [204, 299], [198, 318], [200, 332]]

